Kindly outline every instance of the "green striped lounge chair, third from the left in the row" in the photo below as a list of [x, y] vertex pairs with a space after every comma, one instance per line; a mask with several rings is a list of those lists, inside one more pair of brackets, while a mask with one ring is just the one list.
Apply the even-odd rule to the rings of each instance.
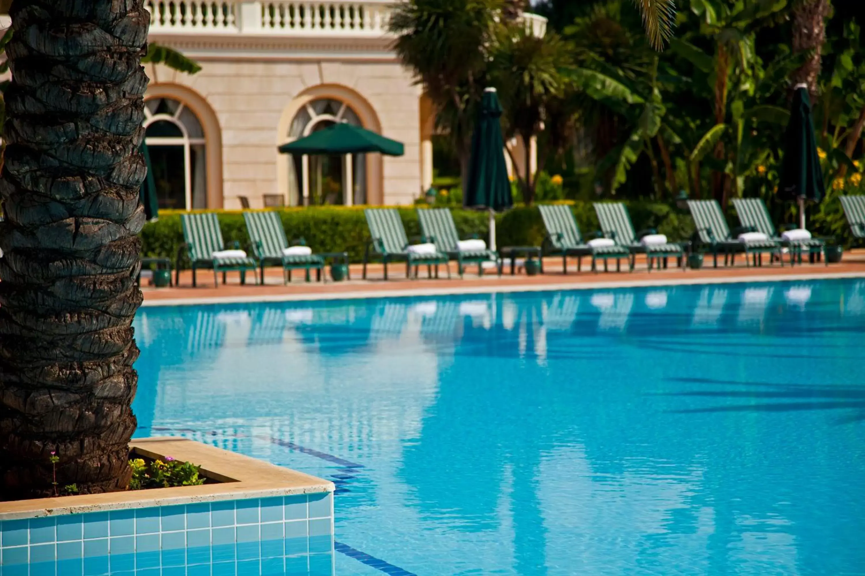
[[384, 279], [388, 280], [388, 263], [405, 261], [406, 276], [411, 277], [414, 266], [414, 277], [418, 276], [418, 267], [426, 264], [427, 274], [435, 265], [436, 277], [439, 276], [439, 264], [447, 266], [447, 276], [451, 277], [451, 267], [447, 255], [436, 250], [429, 254], [415, 254], [408, 251], [406, 229], [402, 226], [400, 212], [394, 208], [367, 208], [363, 211], [369, 226], [370, 240], [363, 252], [363, 278], [367, 277], [367, 263], [370, 258], [378, 256], [384, 264]]

